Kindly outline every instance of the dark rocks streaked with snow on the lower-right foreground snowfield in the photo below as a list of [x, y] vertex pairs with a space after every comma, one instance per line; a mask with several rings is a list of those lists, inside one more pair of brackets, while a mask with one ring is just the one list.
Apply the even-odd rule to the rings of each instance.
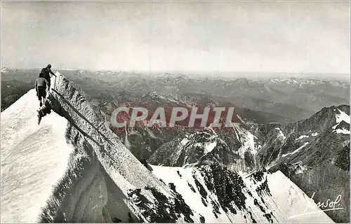
[[[168, 170], [170, 175], [173, 176], [177, 175], [178, 170], [178, 168], [170, 169], [169, 167], [157, 169], [154, 169], [157, 171], [155, 174], [161, 174], [162, 176], [164, 175], [162, 171]], [[250, 176], [249, 179], [245, 179], [244, 181], [243, 177], [237, 172], [221, 167], [220, 165], [199, 165], [198, 167], [183, 167], [180, 169], [182, 170], [182, 177], [176, 176], [175, 179], [168, 179], [167, 183], [169, 188], [171, 188], [176, 195], [178, 195], [177, 188], [182, 188], [182, 193], [187, 195], [187, 202], [188, 200], [201, 200], [204, 207], [211, 209], [212, 214], [206, 215], [215, 218], [215, 221], [211, 219], [213, 222], [216, 222], [216, 218], [221, 218], [222, 220], [223, 218], [229, 218], [228, 220], [230, 221], [233, 215], [242, 216], [248, 223], [252, 223], [253, 221], [269, 221], [268, 219], [270, 216], [264, 216], [264, 214], [269, 214], [273, 211], [272, 205], [267, 205], [262, 201], [263, 198], [270, 197], [270, 189], [262, 188], [262, 195], [256, 195], [253, 192], [256, 188], [260, 188], [260, 183], [264, 185], [264, 181], [267, 180], [267, 172], [263, 173], [263, 171], [261, 171], [260, 173], [263, 173], [263, 177], [260, 178], [260, 183], [257, 183], [257, 181], [253, 183], [250, 179], [255, 179], [255, 177], [260, 176], [260, 173], [254, 173], [254, 177]], [[186, 179], [186, 181], [184, 179]], [[177, 181], [182, 181], [182, 183], [178, 183]], [[190, 182], [192, 183], [191, 185]], [[183, 186], [180, 186], [183, 185], [183, 183], [187, 183], [190, 189], [185, 189]], [[194, 186], [194, 188], [192, 188], [192, 186]], [[157, 193], [153, 193], [153, 195], [157, 195]], [[193, 198], [192, 195], [194, 195]], [[157, 198], [159, 198], [159, 196], [157, 196]], [[180, 202], [181, 201], [180, 199]], [[194, 204], [192, 204], [192, 206], [194, 206]], [[187, 209], [185, 209], [185, 211], [186, 210]], [[185, 211], [183, 211], [183, 214]], [[249, 211], [254, 214], [250, 216]], [[197, 216], [200, 222], [204, 222], [204, 214], [197, 214]], [[277, 221], [274, 217], [272, 220]]]

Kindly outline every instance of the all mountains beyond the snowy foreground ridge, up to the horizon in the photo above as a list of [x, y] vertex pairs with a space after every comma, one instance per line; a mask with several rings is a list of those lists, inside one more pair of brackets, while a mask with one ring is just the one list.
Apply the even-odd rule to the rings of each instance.
[[[36, 69], [1, 69], [1, 90], [5, 93], [1, 99], [6, 102], [2, 110], [32, 88], [38, 73]], [[349, 221], [349, 82], [296, 77], [253, 80], [184, 73], [150, 76], [126, 71], [65, 73], [87, 93], [86, 100], [95, 111], [101, 111], [107, 125], [112, 111], [124, 103], [150, 109], [234, 106], [239, 125], [231, 129], [159, 129], [143, 125], [110, 129], [146, 167], [150, 168], [148, 162], [184, 169], [219, 165], [230, 172], [279, 171], [308, 197], [313, 195], [316, 202], [341, 195], [339, 204], [343, 209], [326, 214], [333, 221]]]

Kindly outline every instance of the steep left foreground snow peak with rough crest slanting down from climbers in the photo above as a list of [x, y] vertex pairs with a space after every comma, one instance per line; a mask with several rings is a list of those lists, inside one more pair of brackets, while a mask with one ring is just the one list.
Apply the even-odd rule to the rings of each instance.
[[1, 113], [1, 222], [197, 222], [57, 76], [39, 126], [34, 90]]

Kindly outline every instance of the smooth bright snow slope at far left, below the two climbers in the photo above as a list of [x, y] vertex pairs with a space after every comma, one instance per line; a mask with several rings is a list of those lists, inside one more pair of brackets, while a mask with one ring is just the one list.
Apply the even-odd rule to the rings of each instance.
[[30, 90], [1, 113], [1, 223], [37, 221], [74, 149], [65, 118], [51, 113], [37, 125], [35, 99]]

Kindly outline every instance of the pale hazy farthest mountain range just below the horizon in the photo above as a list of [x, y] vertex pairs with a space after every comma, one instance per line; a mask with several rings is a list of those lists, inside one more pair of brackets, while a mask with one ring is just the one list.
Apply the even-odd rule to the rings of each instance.
[[[39, 69], [3, 70], [3, 81], [20, 80], [29, 83], [39, 74]], [[117, 96], [119, 92], [156, 92], [172, 95], [173, 98], [181, 98], [180, 94], [206, 94], [216, 101], [289, 118], [286, 123], [309, 118], [325, 106], [350, 104], [350, 82], [347, 80], [282, 77], [250, 80], [186, 73], [149, 75], [127, 71], [62, 72], [95, 99]]]

